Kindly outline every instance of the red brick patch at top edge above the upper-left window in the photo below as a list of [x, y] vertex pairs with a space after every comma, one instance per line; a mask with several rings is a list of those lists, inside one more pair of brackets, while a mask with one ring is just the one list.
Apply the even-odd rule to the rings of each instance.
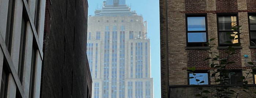
[[205, 11], [206, 10], [206, 0], [185, 0], [185, 10], [186, 11]]

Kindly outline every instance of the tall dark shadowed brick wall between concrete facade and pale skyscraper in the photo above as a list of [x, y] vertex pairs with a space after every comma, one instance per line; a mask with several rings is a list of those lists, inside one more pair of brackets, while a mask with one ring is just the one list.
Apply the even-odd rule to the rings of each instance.
[[87, 0], [47, 0], [47, 8], [40, 97], [89, 98]]

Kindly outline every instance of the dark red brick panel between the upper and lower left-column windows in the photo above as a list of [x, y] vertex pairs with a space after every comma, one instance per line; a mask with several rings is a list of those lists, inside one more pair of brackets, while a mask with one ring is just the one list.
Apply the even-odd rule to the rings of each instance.
[[187, 50], [188, 67], [209, 67], [208, 51], [205, 50]]

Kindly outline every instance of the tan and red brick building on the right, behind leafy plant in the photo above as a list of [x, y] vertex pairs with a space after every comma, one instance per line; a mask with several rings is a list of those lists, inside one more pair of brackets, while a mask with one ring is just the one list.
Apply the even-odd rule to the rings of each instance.
[[[245, 75], [246, 71], [242, 70], [251, 67], [247, 66], [244, 55], [248, 55], [248, 61], [256, 60], [255, 17], [255, 0], [160, 0], [162, 98], [187, 98], [197, 94], [196, 88], [190, 86], [193, 83], [187, 72], [187, 67], [195, 65], [196, 71], [208, 80], [204, 87], [210, 87], [209, 61], [204, 61], [209, 53], [203, 50], [209, 46], [204, 43], [215, 38], [213, 51], [225, 57], [223, 54], [229, 46], [224, 43], [228, 40], [225, 32], [231, 31], [232, 26], [242, 26], [239, 32], [243, 39], [234, 40], [242, 45], [234, 47], [237, 54], [230, 60], [235, 64], [227, 69]], [[249, 92], [256, 91], [255, 76], [247, 80]], [[250, 97], [243, 95], [240, 97]]]

